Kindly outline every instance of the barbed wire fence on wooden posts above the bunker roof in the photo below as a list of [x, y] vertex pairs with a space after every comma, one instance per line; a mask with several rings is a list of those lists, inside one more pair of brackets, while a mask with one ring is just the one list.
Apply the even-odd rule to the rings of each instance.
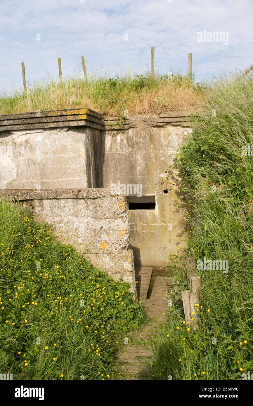
[[[148, 49], [150, 49], [150, 48], [149, 47], [147, 47], [147, 48], [130, 48], [130, 49], [127, 49], [127, 50], [99, 52], [99, 53], [94, 53], [94, 54], [86, 54], [85, 58], [91, 57], [91, 56], [97, 56], [97, 55], [116, 54], [116, 53], [119, 53], [119, 52], [140, 51], [140, 50], [144, 51], [144, 50], [148, 50]], [[17, 65], [17, 67], [18, 67], [18, 65], [19, 66], [21, 65], [21, 69], [17, 73], [7, 73], [7, 74], [0, 75], [0, 78], [8, 77], [8, 76], [19, 76], [22, 79], [20, 78], [20, 80], [16, 80], [16, 81], [12, 80], [11, 82], [0, 82], [0, 84], [1, 85], [10, 84], [10, 83], [16, 84], [16, 83], [22, 83], [23, 82], [24, 90], [26, 90], [26, 76], [27, 75], [30, 75], [32, 73], [55, 71], [57, 69], [58, 69], [58, 72], [59, 72], [59, 80], [62, 80], [62, 78], [63, 78], [62, 70], [66, 71], [67, 69], [76, 68], [76, 65], [62, 67], [61, 60], [62, 59], [70, 59], [70, 58], [76, 58], [76, 59], [78, 58], [79, 61], [81, 61], [81, 63], [82, 63], [82, 71], [80, 72], [80, 78], [82, 78], [84, 80], [87, 80], [87, 69], [90, 71], [90, 68], [93, 68], [93, 67], [99, 67], [99, 66], [100, 67], [105, 67], [105, 66], [108, 67], [108, 65], [111, 65], [111, 64], [123, 64], [123, 63], [126, 63], [126, 62], [132, 62], [132, 61], [136, 62], [136, 61], [140, 61], [140, 60], [141, 61], [146, 60], [147, 65], [148, 65], [148, 62], [150, 60], [150, 62], [151, 62], [150, 71], [151, 71], [151, 77], [153, 77], [153, 78], [154, 78], [154, 75], [155, 75], [155, 68], [158, 69], [158, 70], [159, 69], [171, 69], [172, 68], [172, 65], [170, 67], [168, 67], [168, 66], [160, 66], [160, 65], [162, 65], [163, 61], [166, 61], [166, 64], [167, 63], [168, 64], [169, 63], [177, 63], [177, 64], [181, 64], [181, 65], [183, 64], [184, 69], [186, 69], [188, 77], [192, 78], [192, 54], [191, 53], [188, 54], [188, 65], [187, 65], [185, 57], [184, 57], [184, 61], [183, 60], [180, 61], [178, 58], [173, 59], [171, 57], [164, 57], [164, 56], [157, 56], [157, 55], [155, 57], [154, 56], [155, 49], [158, 50], [158, 52], [159, 52], [159, 50], [162, 50], [162, 54], [163, 55], [165, 54], [165, 56], [167, 55], [167, 51], [175, 52], [175, 53], [177, 53], [176, 55], [178, 55], [178, 54], [187, 55], [188, 54], [187, 52], [179, 51], [179, 50], [171, 49], [171, 48], [163, 48], [163, 47], [156, 47], [155, 48], [155, 47], [151, 47], [151, 57], [150, 56], [143, 56], [141, 58], [131, 58], [131, 59], [125, 59], [125, 60], [114, 60], [114, 61], [111, 61], [111, 62], [97, 63], [97, 64], [92, 64], [92, 65], [88, 64], [87, 67], [86, 67], [84, 56], [64, 56], [64, 57], [61, 57], [61, 58], [45, 58], [45, 59], [27, 60], [27, 61], [24, 61], [24, 62], [16, 62], [16, 63], [4, 63], [4, 64], [0, 64], [0, 67], [13, 66], [13, 65]], [[215, 57], [215, 58], [224, 58], [224, 59], [225, 58], [244, 58], [244, 59], [246, 58], [246, 59], [253, 60], [252, 56], [239, 56], [239, 55], [227, 55], [227, 54], [206, 54], [206, 53], [201, 53], [201, 52], [195, 52], [194, 53], [194, 58], [195, 58], [195, 55], [197, 56], [197, 61], [199, 60], [199, 58], [201, 58], [203, 56], [205, 56], [205, 57], [209, 56], [209, 57]], [[45, 62], [45, 61], [49, 61], [49, 60], [52, 60], [52, 61], [58, 60], [58, 66], [52, 67], [52, 68], [49, 68], [49, 69], [37, 70], [37, 71], [36, 70], [35, 71], [28, 71], [28, 72], [25, 71], [25, 64], [36, 63], [36, 62], [41, 63], [41, 62]], [[155, 65], [155, 61], [156, 61], [156, 65]], [[216, 61], [215, 61], [215, 63], [216, 63]], [[221, 61], [221, 63], [222, 63], [222, 61]], [[223, 63], [225, 63], [225, 62], [223, 62]], [[204, 66], [204, 70], [201, 68], [201, 66]], [[111, 69], [110, 71], [115, 71], [116, 69]], [[208, 71], [208, 70], [205, 70], [205, 69], [211, 69], [211, 71]], [[224, 67], [224, 66], [223, 67], [216, 67], [216, 66], [215, 67], [213, 67], [213, 66], [208, 67], [208, 66], [206, 66], [206, 62], [204, 62], [204, 63], [194, 63], [194, 73], [195, 74], [208, 73], [209, 75], [221, 75], [221, 71], [223, 71], [223, 73], [225, 73], [224, 69], [226, 69], [226, 67]], [[253, 69], [253, 65], [251, 65], [251, 67], [249, 67], [243, 73], [241, 73], [240, 77], [244, 77], [252, 69]], [[217, 72], [215, 72], [215, 71], [217, 71]], [[168, 73], [172, 74], [172, 72], [168, 72]], [[58, 78], [58, 76], [57, 76], [57, 78]], [[30, 79], [30, 80], [32, 80], [32, 79]]]

